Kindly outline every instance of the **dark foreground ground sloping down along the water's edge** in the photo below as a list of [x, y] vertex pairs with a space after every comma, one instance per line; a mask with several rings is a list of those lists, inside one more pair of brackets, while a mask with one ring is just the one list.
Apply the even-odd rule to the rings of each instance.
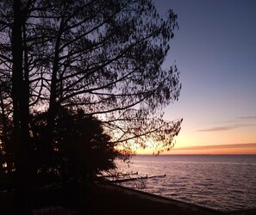
[[[10, 215], [11, 193], [0, 194], [0, 214]], [[82, 200], [70, 194], [65, 196], [58, 190], [39, 192], [35, 198], [34, 215], [255, 215], [256, 210], [222, 213], [183, 202], [146, 194], [114, 185], [94, 185]], [[62, 199], [62, 200], [61, 200]], [[54, 206], [54, 207], [51, 207]], [[41, 209], [43, 208], [43, 209]]]

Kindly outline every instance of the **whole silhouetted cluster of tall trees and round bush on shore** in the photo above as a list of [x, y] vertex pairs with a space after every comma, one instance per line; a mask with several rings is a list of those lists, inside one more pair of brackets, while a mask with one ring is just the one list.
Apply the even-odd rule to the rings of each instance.
[[150, 0], [1, 1], [0, 174], [14, 176], [16, 214], [34, 187], [91, 181], [148, 138], [172, 148], [182, 120], [162, 109], [181, 85], [161, 64], [175, 28]]

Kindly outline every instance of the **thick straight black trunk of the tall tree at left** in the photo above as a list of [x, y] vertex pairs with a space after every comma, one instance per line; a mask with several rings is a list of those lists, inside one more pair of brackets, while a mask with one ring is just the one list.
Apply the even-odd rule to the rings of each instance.
[[14, 144], [16, 163], [16, 214], [31, 214], [32, 211], [32, 147], [29, 138], [28, 81], [22, 72], [22, 10], [21, 0], [13, 3], [14, 23], [12, 28], [12, 96], [14, 108]]

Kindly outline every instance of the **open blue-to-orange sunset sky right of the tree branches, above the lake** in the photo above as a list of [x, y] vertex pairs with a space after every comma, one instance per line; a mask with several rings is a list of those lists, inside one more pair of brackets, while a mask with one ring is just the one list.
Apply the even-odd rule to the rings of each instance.
[[184, 118], [171, 153], [256, 154], [256, 1], [155, 4], [161, 15], [178, 14], [164, 64], [176, 62], [183, 86], [165, 108], [165, 120]]

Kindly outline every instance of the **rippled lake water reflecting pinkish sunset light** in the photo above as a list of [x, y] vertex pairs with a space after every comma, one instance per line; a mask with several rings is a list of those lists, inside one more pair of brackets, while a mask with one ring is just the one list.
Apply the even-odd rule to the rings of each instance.
[[135, 156], [117, 165], [134, 177], [166, 175], [122, 186], [222, 212], [256, 208], [256, 156]]

